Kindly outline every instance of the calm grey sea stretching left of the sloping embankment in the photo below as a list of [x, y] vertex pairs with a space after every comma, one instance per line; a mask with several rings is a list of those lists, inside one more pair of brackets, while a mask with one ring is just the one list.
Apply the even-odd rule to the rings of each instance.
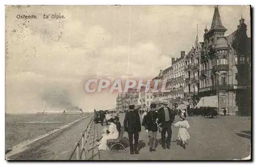
[[82, 115], [6, 116], [6, 148], [34, 140], [39, 136], [45, 135], [54, 129], [65, 126], [83, 117]]

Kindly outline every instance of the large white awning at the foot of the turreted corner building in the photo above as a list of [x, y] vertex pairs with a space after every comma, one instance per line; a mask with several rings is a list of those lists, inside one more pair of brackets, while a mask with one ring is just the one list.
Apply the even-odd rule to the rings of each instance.
[[202, 97], [195, 108], [200, 108], [200, 107], [219, 107], [219, 102], [218, 102], [218, 96], [208, 96], [208, 97]]

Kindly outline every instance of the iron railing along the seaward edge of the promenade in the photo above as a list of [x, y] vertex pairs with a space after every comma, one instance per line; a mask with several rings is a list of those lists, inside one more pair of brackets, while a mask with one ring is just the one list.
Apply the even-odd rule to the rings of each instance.
[[[76, 142], [76, 147], [74, 148], [72, 154], [70, 155], [69, 160], [71, 160], [76, 153], [76, 160], [86, 160], [86, 153], [89, 152], [88, 149], [89, 144], [89, 137], [92, 130], [92, 126], [94, 124], [94, 117], [90, 120], [89, 124], [87, 125], [86, 129], [81, 133], [80, 140]], [[97, 130], [97, 124], [96, 124]]]

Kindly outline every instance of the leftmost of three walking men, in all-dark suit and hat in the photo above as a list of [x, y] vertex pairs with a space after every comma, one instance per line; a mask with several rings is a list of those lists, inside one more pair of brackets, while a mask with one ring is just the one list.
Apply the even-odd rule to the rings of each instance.
[[[134, 105], [129, 105], [130, 111], [125, 114], [123, 127], [128, 132], [129, 143], [130, 143], [130, 154], [139, 154], [138, 152], [138, 141], [139, 132], [141, 131], [140, 116], [137, 111], [134, 111]], [[133, 139], [134, 146], [133, 148]]]

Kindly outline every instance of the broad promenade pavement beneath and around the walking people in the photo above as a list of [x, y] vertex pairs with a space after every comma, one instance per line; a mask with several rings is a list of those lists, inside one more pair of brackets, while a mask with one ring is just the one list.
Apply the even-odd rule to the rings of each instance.
[[[120, 114], [123, 125], [124, 114]], [[178, 122], [176, 118], [175, 122]], [[157, 145], [156, 152], [149, 152], [148, 135], [144, 127], [139, 134], [138, 155], [131, 155], [127, 144], [127, 132], [122, 142], [126, 147], [116, 152], [100, 151], [100, 160], [233, 160], [242, 159], [250, 154], [251, 118], [237, 116], [218, 116], [208, 119], [202, 116], [187, 117], [190, 124], [188, 132], [190, 140], [186, 149], [177, 144], [178, 129], [173, 127], [170, 149], [162, 149]], [[142, 121], [142, 120], [141, 120]], [[98, 134], [105, 127], [98, 124]], [[157, 133], [157, 142], [160, 143], [161, 134]]]

